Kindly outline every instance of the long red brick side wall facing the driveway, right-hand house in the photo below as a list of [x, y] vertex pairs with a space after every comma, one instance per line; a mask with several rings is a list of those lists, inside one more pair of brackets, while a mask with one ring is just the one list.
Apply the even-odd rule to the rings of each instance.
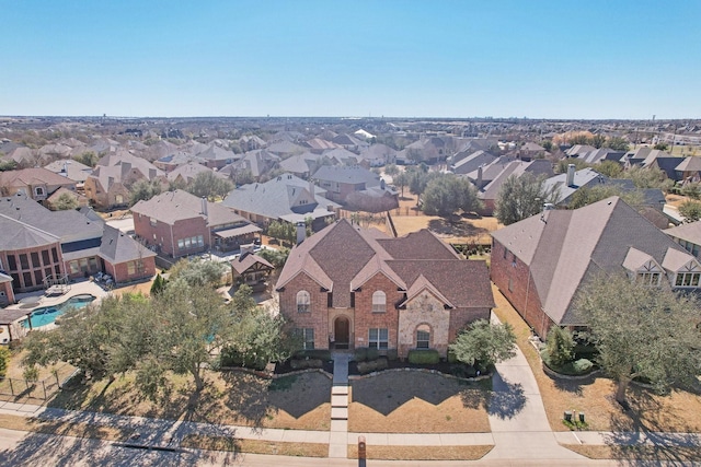
[[544, 338], [553, 323], [543, 312], [530, 269], [524, 261], [515, 258], [512, 252], [507, 252], [506, 258], [504, 258], [505, 249], [501, 243], [492, 242], [490, 267], [492, 282], [499, 288], [526, 323]]

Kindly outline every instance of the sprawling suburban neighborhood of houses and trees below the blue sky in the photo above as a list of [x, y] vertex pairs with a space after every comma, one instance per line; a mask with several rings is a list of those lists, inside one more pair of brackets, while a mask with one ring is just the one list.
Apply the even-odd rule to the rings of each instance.
[[9, 439], [698, 459], [698, 121], [1, 121]]

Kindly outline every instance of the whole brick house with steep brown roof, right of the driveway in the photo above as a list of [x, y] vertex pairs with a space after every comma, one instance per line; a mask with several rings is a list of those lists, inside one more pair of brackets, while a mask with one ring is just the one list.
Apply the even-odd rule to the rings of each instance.
[[492, 281], [541, 337], [586, 327], [572, 302], [597, 273], [698, 290], [701, 264], [618, 197], [544, 211], [492, 233]]

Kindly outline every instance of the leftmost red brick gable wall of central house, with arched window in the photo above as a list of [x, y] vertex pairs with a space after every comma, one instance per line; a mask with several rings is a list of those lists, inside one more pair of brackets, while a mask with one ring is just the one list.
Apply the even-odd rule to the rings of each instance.
[[[297, 312], [297, 292], [306, 290], [310, 294], [310, 313]], [[306, 273], [299, 273], [285, 285], [279, 293], [280, 313], [292, 323], [295, 328], [314, 329], [314, 348], [329, 348], [329, 308], [327, 292], [321, 292], [319, 282]]]

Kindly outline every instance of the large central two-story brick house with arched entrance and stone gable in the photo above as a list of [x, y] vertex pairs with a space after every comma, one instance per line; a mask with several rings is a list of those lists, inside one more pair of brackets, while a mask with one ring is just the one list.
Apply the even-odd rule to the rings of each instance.
[[393, 238], [336, 221], [290, 252], [276, 284], [280, 313], [306, 348], [436, 349], [489, 319], [484, 261], [461, 259], [427, 230]]

